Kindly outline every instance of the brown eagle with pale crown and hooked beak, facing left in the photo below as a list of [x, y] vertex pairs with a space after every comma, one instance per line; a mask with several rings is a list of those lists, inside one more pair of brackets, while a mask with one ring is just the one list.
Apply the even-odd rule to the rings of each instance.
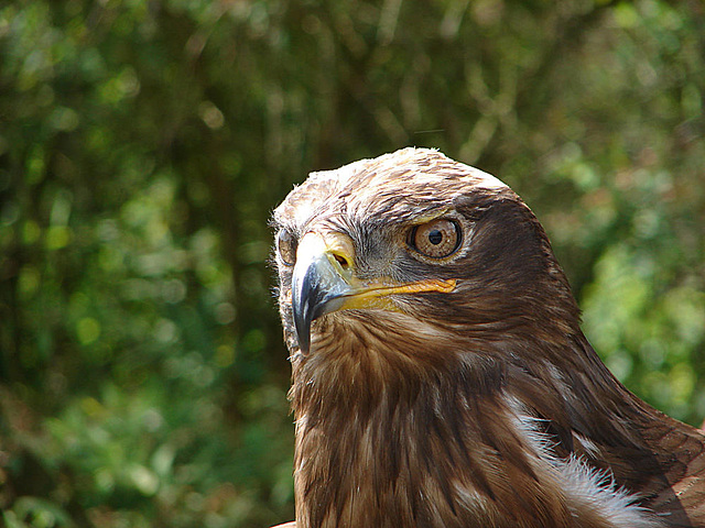
[[705, 437], [579, 328], [499, 179], [404, 148], [275, 209], [296, 528], [705, 527]]

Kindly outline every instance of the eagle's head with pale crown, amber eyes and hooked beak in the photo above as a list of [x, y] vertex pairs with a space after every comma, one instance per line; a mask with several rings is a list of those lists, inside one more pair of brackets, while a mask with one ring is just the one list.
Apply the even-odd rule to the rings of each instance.
[[[468, 337], [577, 328], [549, 240], [502, 182], [425, 148], [314, 173], [274, 211], [293, 351], [330, 326]], [[362, 321], [362, 322], [361, 322]], [[323, 352], [322, 352], [323, 353]]]

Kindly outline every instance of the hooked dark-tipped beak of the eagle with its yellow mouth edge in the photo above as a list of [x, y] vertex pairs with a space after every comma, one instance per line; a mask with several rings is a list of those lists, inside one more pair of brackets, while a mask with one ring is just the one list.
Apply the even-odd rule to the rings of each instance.
[[354, 245], [343, 233], [308, 233], [299, 242], [292, 276], [292, 309], [299, 348], [311, 349], [311, 324], [314, 320], [338, 310], [383, 308], [399, 310], [389, 298], [392, 294], [420, 292], [449, 293], [456, 280], [427, 279], [412, 283], [357, 278], [354, 267]]

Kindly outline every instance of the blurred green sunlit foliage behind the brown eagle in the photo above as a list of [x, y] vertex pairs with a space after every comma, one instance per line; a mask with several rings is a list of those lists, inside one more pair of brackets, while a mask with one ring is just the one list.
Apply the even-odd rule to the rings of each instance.
[[292, 518], [268, 217], [410, 144], [514, 187], [607, 364], [698, 424], [704, 50], [698, 0], [1, 4], [4, 525]]

